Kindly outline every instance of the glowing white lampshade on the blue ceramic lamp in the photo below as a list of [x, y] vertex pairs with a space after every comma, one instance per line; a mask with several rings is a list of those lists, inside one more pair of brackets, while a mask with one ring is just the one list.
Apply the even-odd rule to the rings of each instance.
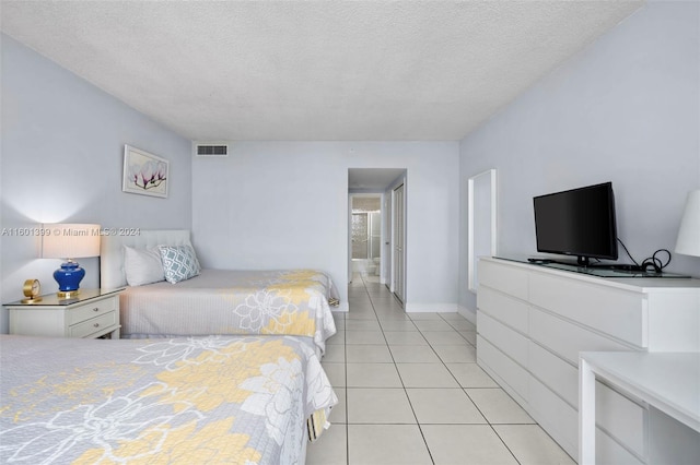
[[100, 257], [100, 225], [44, 225], [47, 233], [42, 239], [44, 259], [81, 259]]

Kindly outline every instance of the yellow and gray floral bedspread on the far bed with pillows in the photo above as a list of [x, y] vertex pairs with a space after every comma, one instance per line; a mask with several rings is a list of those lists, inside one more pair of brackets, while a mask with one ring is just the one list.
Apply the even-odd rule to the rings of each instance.
[[332, 298], [330, 278], [314, 270], [202, 270], [175, 285], [127, 287], [121, 336], [289, 334], [312, 337], [323, 354], [336, 333]]

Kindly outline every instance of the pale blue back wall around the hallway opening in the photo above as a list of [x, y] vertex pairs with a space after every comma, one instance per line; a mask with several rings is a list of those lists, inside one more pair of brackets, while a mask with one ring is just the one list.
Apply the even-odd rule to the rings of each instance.
[[196, 158], [203, 265], [322, 269], [346, 302], [348, 168], [407, 169], [407, 309], [456, 310], [457, 142], [237, 142], [226, 158]]

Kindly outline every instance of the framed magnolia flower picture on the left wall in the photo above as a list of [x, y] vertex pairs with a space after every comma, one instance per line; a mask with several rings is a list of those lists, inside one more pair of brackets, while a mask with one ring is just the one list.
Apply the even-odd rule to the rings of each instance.
[[170, 162], [145, 151], [124, 146], [124, 192], [167, 198]]

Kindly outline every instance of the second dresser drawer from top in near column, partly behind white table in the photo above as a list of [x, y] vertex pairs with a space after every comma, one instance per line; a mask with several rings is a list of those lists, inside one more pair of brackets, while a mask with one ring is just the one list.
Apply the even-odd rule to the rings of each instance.
[[529, 334], [534, 341], [575, 367], [579, 366], [580, 351], [630, 350], [623, 344], [535, 308], [529, 309]]

